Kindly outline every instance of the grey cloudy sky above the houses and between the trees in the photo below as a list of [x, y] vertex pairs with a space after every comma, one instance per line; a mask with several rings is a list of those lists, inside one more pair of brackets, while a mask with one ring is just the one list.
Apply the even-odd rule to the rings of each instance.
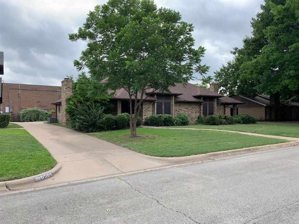
[[[86, 42], [70, 42], [89, 10], [106, 1], [0, 1], [0, 51], [4, 51], [4, 82], [60, 85], [67, 75], [77, 76], [73, 60]], [[251, 35], [251, 17], [263, 0], [155, 0], [158, 7], [181, 13], [193, 23], [196, 48], [207, 49], [203, 63], [209, 75], [232, 59], [230, 50]], [[198, 77], [200, 78], [200, 77]], [[198, 81], [193, 81], [196, 83]]]

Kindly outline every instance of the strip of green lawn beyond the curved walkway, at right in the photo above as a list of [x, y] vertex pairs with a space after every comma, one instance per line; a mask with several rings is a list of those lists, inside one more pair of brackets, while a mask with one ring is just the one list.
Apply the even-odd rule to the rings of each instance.
[[257, 124], [236, 124], [236, 125], [187, 125], [174, 128], [207, 128], [229, 131], [242, 131], [266, 135], [278, 135], [299, 138], [299, 125], [275, 124], [260, 122]]

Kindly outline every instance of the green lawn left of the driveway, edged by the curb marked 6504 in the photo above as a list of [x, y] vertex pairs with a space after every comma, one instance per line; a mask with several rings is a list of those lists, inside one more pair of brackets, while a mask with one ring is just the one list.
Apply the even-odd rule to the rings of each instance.
[[43, 173], [57, 162], [24, 129], [0, 129], [0, 181], [20, 179]]

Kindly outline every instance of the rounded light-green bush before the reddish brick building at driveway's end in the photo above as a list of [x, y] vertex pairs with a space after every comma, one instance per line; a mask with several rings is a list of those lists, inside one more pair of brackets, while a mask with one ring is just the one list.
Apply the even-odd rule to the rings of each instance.
[[51, 112], [44, 111], [39, 108], [24, 109], [20, 112], [21, 122], [30, 121], [46, 121], [48, 117], [51, 117]]

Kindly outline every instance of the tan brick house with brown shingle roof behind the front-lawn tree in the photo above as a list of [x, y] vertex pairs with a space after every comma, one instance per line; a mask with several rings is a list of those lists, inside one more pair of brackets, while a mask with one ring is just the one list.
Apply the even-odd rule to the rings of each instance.
[[[106, 82], [103, 79], [102, 82]], [[223, 96], [218, 93], [218, 84], [211, 83], [210, 90], [187, 83], [176, 84], [169, 88], [170, 93], [159, 93], [148, 91], [144, 95], [145, 101], [141, 108], [141, 118], [144, 120], [152, 114], [171, 114], [185, 113], [190, 122], [196, 121], [199, 115], [225, 114], [225, 108], [231, 105], [235, 110], [233, 116], [237, 115], [237, 105], [243, 102]], [[140, 96], [138, 96], [140, 97]], [[115, 106], [112, 110], [106, 111], [116, 115], [118, 113], [129, 113], [129, 94], [124, 89], [115, 92], [111, 103]]]

